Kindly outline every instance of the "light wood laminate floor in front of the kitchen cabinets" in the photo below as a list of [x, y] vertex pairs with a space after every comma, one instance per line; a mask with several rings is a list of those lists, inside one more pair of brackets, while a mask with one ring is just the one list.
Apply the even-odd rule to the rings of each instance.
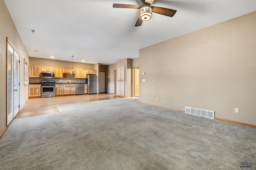
[[15, 118], [60, 112], [57, 105], [122, 98], [115, 94], [90, 94], [28, 99]]

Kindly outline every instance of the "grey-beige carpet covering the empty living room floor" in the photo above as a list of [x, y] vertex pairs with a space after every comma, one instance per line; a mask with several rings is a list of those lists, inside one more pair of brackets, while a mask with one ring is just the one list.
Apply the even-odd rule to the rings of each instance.
[[256, 129], [138, 103], [58, 106], [14, 119], [0, 139], [1, 170], [256, 169]]

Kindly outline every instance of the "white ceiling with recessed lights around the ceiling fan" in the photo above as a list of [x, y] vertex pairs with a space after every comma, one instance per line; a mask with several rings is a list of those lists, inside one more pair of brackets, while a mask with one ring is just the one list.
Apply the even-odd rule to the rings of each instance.
[[[30, 57], [113, 64], [139, 57], [139, 49], [256, 11], [256, 0], [154, 0], [177, 10], [153, 13], [134, 27], [141, 0], [4, 0]], [[36, 34], [30, 33], [36, 30]], [[38, 51], [38, 52], [35, 52]]]

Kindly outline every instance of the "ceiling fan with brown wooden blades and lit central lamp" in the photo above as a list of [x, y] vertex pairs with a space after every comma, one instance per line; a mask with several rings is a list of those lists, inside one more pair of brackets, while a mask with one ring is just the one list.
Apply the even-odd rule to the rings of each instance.
[[148, 21], [152, 17], [152, 12], [161, 14], [164, 16], [172, 17], [177, 10], [172, 10], [168, 8], [162, 8], [157, 6], [151, 6], [154, 0], [142, 0], [142, 6], [138, 5], [128, 5], [128, 4], [113, 4], [113, 8], [134, 8], [140, 9], [140, 16], [135, 24], [135, 27], [138, 27], [142, 24], [142, 21]]

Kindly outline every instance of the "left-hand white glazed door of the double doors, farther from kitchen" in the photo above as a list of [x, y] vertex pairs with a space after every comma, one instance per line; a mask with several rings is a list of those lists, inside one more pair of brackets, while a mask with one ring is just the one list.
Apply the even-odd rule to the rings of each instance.
[[13, 66], [12, 66], [12, 60], [13, 60], [13, 48], [8, 43], [7, 45], [7, 125], [12, 121], [13, 119]]

